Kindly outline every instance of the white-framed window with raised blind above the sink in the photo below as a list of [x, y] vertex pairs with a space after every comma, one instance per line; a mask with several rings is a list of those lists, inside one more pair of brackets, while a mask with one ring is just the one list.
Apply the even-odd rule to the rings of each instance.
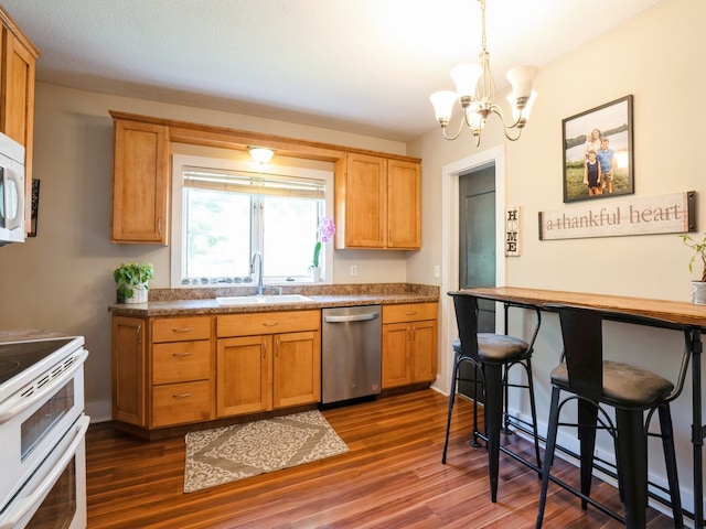
[[[174, 154], [172, 287], [310, 282], [317, 227], [330, 215], [331, 172]], [[331, 202], [331, 201], [329, 201]], [[331, 245], [327, 245], [331, 246]], [[328, 257], [328, 259], [327, 259]], [[331, 277], [332, 251], [322, 252]]]

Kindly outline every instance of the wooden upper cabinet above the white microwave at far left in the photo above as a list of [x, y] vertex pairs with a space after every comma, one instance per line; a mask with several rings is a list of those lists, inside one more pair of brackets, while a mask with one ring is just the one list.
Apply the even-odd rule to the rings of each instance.
[[[10, 15], [0, 7], [0, 131], [24, 145], [24, 196], [32, 204], [32, 155], [34, 152], [34, 69], [39, 52]], [[26, 207], [24, 225], [31, 226]]]

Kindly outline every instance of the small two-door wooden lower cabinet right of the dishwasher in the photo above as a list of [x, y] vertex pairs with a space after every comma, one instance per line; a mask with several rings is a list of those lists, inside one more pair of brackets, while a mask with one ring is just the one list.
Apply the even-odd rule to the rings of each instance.
[[383, 306], [383, 389], [437, 377], [437, 303]]

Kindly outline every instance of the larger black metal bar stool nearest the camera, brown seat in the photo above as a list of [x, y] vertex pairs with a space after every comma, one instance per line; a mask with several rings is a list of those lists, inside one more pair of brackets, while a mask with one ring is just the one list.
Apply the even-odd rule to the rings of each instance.
[[[580, 492], [561, 482], [581, 498], [581, 507], [595, 505], [611, 516], [612, 511], [590, 499], [593, 449], [597, 430], [606, 430], [613, 438], [618, 487], [624, 505], [624, 522], [629, 529], [644, 528], [648, 508], [648, 432], [652, 414], [660, 417], [662, 446], [666, 463], [667, 482], [674, 516], [674, 527], [684, 527], [680, 497], [676, 455], [672, 433], [670, 401], [682, 390], [688, 365], [688, 332], [668, 322], [654, 321], [641, 316], [629, 316], [588, 307], [553, 305], [559, 313], [564, 338], [564, 360], [552, 370], [552, 403], [544, 455], [542, 492], [536, 528], [542, 527], [546, 505], [550, 466], [554, 460], [558, 427], [571, 425], [578, 429], [580, 443]], [[676, 386], [660, 375], [629, 364], [603, 360], [602, 322], [616, 320], [627, 323], [663, 323], [660, 326], [683, 330], [686, 338], [685, 355]], [[648, 323], [650, 322], [650, 323]], [[561, 391], [570, 393], [559, 400]], [[559, 423], [563, 407], [570, 401], [578, 403], [578, 423]], [[613, 408], [616, 421], [605, 411], [603, 406]], [[648, 411], [646, 422], [644, 412]]]

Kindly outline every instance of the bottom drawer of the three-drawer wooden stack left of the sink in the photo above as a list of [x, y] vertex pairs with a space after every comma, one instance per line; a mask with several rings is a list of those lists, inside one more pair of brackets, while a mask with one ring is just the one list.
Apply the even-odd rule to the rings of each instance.
[[211, 420], [211, 381], [169, 384], [152, 388], [152, 428]]

